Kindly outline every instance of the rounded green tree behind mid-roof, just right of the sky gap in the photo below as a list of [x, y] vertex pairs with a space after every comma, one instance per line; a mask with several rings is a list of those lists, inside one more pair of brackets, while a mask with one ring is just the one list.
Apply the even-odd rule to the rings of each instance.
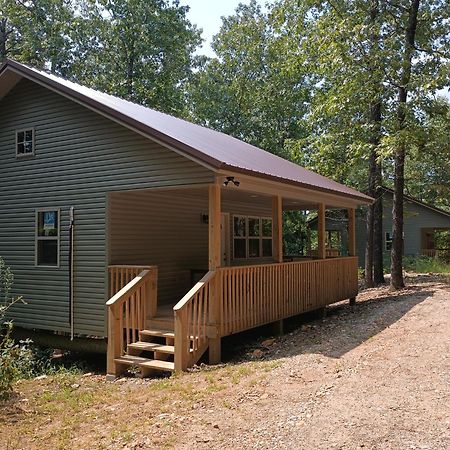
[[288, 139], [304, 137], [309, 83], [285, 70], [280, 45], [255, 1], [239, 5], [213, 39], [217, 56], [190, 84], [192, 119], [277, 154]]

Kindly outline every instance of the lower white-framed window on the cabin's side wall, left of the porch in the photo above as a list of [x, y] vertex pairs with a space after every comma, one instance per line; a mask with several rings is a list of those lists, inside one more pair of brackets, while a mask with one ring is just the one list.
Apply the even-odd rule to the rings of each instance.
[[59, 210], [36, 212], [36, 265], [59, 266]]

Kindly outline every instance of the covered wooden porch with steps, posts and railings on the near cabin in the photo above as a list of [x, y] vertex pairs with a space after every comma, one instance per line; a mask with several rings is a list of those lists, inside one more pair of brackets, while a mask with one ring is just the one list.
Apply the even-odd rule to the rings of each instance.
[[[143, 375], [186, 370], [207, 350], [210, 363], [217, 363], [224, 336], [356, 297], [356, 203], [300, 189], [274, 195], [272, 186], [241, 177], [112, 194], [108, 374], [117, 376], [129, 366]], [[127, 236], [120, 205], [131, 214]], [[327, 252], [327, 208], [348, 211], [348, 255]], [[153, 228], [145, 209], [158, 212], [150, 214]], [[313, 209], [317, 256], [284, 255], [283, 211]], [[180, 211], [184, 216], [172, 223]], [[167, 226], [156, 231], [158, 219]], [[147, 226], [130, 232], [136, 221]]]

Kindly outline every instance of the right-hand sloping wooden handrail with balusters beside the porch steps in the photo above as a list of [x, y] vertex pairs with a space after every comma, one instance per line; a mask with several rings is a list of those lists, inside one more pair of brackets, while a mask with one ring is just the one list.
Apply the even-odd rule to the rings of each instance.
[[208, 346], [215, 278], [216, 272], [209, 271], [173, 308], [175, 371], [197, 362]]

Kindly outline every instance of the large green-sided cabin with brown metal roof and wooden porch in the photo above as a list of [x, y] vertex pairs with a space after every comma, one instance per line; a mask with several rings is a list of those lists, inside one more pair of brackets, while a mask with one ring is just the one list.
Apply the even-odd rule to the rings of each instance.
[[[186, 370], [221, 338], [358, 292], [372, 199], [238, 139], [8, 60], [0, 69], [0, 255], [17, 327], [107, 339], [107, 371]], [[325, 213], [348, 216], [327, 258]], [[314, 257], [283, 212], [317, 210]]]

